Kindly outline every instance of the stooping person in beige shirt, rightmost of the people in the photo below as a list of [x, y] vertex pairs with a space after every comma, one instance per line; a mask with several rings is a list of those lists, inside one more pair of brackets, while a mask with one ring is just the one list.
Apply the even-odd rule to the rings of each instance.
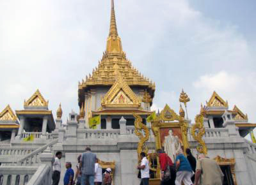
[[194, 185], [199, 184], [199, 179], [200, 185], [221, 185], [224, 175], [216, 161], [206, 158], [204, 154], [200, 154], [198, 158]]

